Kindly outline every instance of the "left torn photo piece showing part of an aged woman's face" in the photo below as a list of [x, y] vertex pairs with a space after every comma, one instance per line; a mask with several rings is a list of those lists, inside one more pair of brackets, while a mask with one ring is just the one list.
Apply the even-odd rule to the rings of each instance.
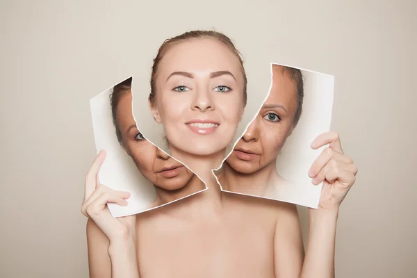
[[132, 113], [132, 78], [91, 99], [97, 152], [107, 156], [100, 183], [131, 192], [128, 206], [108, 204], [113, 216], [147, 211], [199, 193], [205, 184], [138, 130]]

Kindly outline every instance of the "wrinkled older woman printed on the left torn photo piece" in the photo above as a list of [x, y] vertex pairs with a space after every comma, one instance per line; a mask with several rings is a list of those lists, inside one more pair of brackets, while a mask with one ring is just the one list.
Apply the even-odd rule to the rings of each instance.
[[131, 156], [139, 172], [154, 184], [156, 200], [151, 207], [204, 190], [206, 186], [193, 172], [146, 140], [138, 131], [132, 114], [131, 82], [132, 78], [129, 78], [113, 88], [113, 124], [120, 145]]

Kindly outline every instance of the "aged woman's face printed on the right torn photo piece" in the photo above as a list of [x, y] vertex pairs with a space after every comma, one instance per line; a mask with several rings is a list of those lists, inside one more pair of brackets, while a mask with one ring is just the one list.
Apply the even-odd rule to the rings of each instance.
[[227, 163], [237, 172], [252, 174], [275, 160], [293, 131], [297, 110], [295, 82], [281, 67], [272, 68], [272, 88], [261, 111], [240, 138]]

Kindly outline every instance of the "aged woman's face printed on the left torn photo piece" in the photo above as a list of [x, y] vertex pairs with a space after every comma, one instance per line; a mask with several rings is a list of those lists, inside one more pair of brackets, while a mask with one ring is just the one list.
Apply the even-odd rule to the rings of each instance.
[[155, 186], [177, 190], [193, 177], [193, 172], [142, 137], [132, 114], [132, 94], [125, 92], [117, 106], [117, 124], [126, 142], [125, 150], [139, 172]]

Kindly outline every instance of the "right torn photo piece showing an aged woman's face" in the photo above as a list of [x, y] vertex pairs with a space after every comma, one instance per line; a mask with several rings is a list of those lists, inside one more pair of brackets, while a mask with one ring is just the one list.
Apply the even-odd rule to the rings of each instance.
[[272, 85], [259, 113], [215, 175], [223, 191], [316, 208], [321, 186], [308, 176], [329, 131], [334, 77], [272, 64]]

